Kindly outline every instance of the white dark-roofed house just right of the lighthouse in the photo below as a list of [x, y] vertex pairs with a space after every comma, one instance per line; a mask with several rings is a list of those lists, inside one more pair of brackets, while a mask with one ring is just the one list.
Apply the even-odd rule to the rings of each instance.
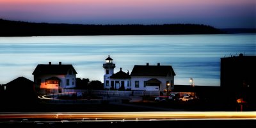
[[170, 91], [175, 72], [170, 65], [135, 65], [131, 72], [131, 90]]

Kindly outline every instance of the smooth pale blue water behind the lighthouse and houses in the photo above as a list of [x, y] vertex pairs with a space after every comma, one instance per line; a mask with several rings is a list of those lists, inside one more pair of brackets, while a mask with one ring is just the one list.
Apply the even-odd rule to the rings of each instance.
[[150, 36], [0, 37], [0, 84], [24, 76], [33, 80], [37, 64], [72, 64], [77, 77], [103, 81], [108, 55], [119, 68], [172, 65], [175, 84], [220, 86], [220, 58], [256, 55], [255, 34]]

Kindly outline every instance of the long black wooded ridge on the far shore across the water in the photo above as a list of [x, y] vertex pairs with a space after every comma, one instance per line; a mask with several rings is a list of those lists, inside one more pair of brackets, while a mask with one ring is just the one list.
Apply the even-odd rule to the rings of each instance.
[[204, 24], [49, 24], [0, 19], [0, 36], [202, 35], [226, 31]]

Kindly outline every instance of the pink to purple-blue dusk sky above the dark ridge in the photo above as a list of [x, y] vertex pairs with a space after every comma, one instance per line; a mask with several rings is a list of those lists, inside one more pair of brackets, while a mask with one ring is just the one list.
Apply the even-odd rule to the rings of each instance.
[[0, 0], [0, 19], [256, 28], [255, 0]]

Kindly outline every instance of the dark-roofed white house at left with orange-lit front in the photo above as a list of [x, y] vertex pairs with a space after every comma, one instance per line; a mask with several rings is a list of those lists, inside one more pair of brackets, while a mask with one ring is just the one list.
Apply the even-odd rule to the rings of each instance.
[[58, 65], [52, 65], [51, 62], [37, 65], [33, 72], [35, 89], [41, 93], [56, 93], [64, 88], [75, 88], [76, 74], [72, 65], [62, 65], [61, 62]]

